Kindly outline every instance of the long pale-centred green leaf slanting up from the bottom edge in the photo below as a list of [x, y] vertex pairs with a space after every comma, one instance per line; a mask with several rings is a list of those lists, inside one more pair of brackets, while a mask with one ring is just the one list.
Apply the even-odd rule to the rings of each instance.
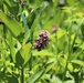
[[44, 73], [44, 69], [36, 71], [33, 75], [31, 75], [28, 79], [28, 83], [35, 83], [35, 81], [39, 80], [43, 73]]

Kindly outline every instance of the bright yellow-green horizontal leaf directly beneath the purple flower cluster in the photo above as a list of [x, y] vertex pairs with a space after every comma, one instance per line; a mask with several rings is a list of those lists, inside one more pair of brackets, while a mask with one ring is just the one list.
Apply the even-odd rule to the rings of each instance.
[[48, 50], [42, 50], [42, 51], [33, 51], [33, 55], [40, 55], [40, 56], [52, 56], [54, 55], [52, 52], [48, 51]]

